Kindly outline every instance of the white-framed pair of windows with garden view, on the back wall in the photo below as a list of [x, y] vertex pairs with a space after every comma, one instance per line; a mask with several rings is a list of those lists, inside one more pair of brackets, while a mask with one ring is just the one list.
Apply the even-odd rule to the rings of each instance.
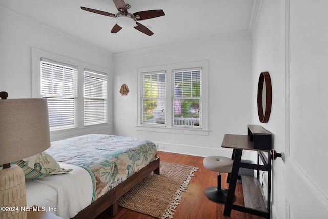
[[137, 129], [208, 134], [208, 61], [138, 69]]

